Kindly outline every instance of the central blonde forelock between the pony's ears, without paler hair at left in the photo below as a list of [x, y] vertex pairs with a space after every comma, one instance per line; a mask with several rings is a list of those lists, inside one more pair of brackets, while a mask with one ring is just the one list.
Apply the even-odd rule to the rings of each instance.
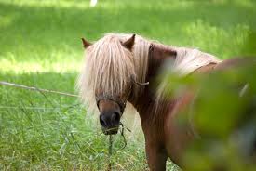
[[[88, 53], [88, 67], [94, 90], [102, 90], [113, 96], [120, 95], [134, 74], [132, 55], [121, 45], [120, 40], [110, 38], [109, 43], [100, 41], [95, 44], [94, 52]], [[95, 73], [95, 75], [93, 75]]]

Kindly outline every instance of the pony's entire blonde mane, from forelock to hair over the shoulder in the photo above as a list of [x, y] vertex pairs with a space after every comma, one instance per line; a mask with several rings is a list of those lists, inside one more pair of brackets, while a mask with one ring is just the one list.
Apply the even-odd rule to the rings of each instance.
[[[134, 84], [131, 77], [137, 82], [146, 82], [149, 47], [155, 43], [136, 35], [135, 44], [129, 51], [122, 42], [128, 40], [131, 35], [108, 33], [88, 47], [85, 64], [76, 85], [84, 103], [92, 107], [96, 106], [96, 90], [101, 91], [103, 95], [116, 97], [122, 95], [131, 85], [133, 86], [132, 96], [136, 98], [141, 95], [144, 86]], [[209, 63], [221, 61], [197, 49], [169, 47], [177, 51], [177, 57], [168, 67], [171, 67], [172, 72], [175, 71], [181, 75], [194, 72]], [[156, 106], [168, 85], [169, 83], [163, 80], [157, 88]]]

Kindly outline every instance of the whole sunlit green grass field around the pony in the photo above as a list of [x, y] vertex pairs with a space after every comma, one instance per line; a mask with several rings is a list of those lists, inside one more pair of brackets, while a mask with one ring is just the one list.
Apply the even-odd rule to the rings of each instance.
[[[0, 0], [0, 80], [75, 93], [83, 57], [80, 38], [94, 41], [110, 32], [194, 46], [221, 59], [256, 54], [253, 0], [88, 5]], [[77, 99], [0, 86], [0, 107], [1, 170], [105, 170], [107, 138]], [[43, 109], [30, 109], [35, 107]], [[127, 148], [117, 151], [121, 146], [122, 138], [115, 137], [116, 170], [146, 168], [142, 138], [129, 138]]]

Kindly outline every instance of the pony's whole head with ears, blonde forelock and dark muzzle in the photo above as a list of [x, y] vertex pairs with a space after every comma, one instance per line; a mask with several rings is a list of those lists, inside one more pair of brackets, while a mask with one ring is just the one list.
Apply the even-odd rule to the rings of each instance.
[[78, 80], [80, 96], [96, 102], [103, 133], [116, 134], [136, 77], [131, 52], [135, 34], [128, 38], [107, 34], [94, 44], [82, 40], [87, 57]]

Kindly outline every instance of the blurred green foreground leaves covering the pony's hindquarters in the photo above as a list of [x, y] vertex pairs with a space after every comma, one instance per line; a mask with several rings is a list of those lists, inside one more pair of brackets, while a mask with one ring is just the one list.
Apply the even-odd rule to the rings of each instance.
[[[194, 99], [181, 114], [180, 125], [190, 125], [195, 139], [186, 151], [188, 170], [255, 170], [256, 60], [209, 74], [169, 75], [168, 94], [192, 90]], [[181, 89], [179, 89], [182, 87]], [[195, 91], [196, 90], [196, 91]], [[178, 91], [178, 92], [175, 92]], [[187, 119], [189, 118], [189, 120]]]

